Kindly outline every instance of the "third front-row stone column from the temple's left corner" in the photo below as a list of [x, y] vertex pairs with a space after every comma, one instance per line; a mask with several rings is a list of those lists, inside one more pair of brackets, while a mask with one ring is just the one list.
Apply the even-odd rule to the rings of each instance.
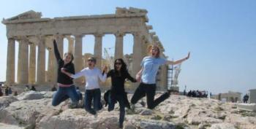
[[45, 83], [45, 36], [38, 36], [37, 84]]

